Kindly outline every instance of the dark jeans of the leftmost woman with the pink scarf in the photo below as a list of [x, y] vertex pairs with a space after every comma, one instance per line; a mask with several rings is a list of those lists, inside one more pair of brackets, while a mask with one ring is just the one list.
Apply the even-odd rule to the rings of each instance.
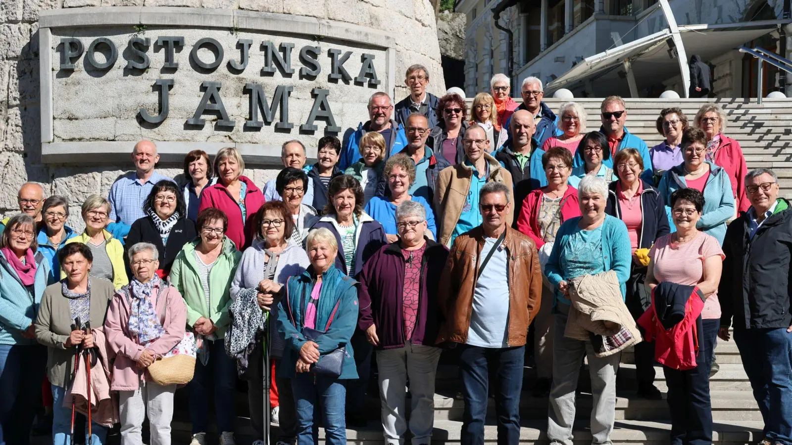
[[0, 344], [0, 445], [29, 445], [47, 347]]

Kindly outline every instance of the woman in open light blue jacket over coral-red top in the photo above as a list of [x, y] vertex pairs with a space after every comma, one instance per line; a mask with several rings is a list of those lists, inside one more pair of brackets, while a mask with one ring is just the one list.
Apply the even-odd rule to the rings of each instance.
[[687, 128], [682, 133], [684, 162], [663, 174], [657, 190], [663, 202], [671, 201], [671, 194], [680, 188], [695, 188], [704, 195], [703, 213], [696, 222], [699, 230], [723, 242], [726, 221], [734, 216], [734, 195], [725, 169], [705, 160], [706, 135], [699, 128]]

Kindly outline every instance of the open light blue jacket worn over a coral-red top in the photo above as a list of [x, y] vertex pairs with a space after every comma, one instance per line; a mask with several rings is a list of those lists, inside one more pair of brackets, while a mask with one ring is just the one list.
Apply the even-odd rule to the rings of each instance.
[[[710, 177], [706, 179], [704, 185], [704, 207], [701, 218], [696, 223], [696, 228], [718, 239], [718, 243], [723, 245], [723, 238], [726, 236], [726, 221], [735, 215], [736, 204], [732, 192], [732, 183], [729, 174], [724, 169], [710, 164]], [[671, 208], [671, 194], [680, 188], [687, 188], [685, 182], [684, 164], [676, 165], [663, 173], [657, 191], [663, 196], [663, 202]], [[669, 213], [670, 214], [670, 213]], [[676, 231], [673, 222], [672, 232]]]

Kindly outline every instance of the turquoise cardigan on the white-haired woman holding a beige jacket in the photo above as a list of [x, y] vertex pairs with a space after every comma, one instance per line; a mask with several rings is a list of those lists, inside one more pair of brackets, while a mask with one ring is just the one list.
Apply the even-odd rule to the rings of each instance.
[[[550, 259], [547, 264], [545, 264], [545, 276], [547, 276], [550, 284], [553, 285], [555, 293], [553, 306], [558, 305], [558, 302], [567, 305], [572, 304], [569, 299], [558, 291], [558, 283], [568, 280], [566, 272], [562, 269], [561, 257], [565, 255], [565, 249], [569, 245], [569, 236], [577, 230], [577, 222], [581, 218], [581, 216], [577, 216], [573, 219], [567, 219], [558, 228], [553, 251], [550, 253]], [[602, 223], [602, 250], [605, 256], [605, 270], [616, 272], [616, 276], [619, 277], [619, 287], [622, 289], [622, 299], [624, 299], [626, 282], [630, 279], [630, 264], [633, 254], [630, 246], [630, 235], [627, 234], [627, 226], [624, 225], [621, 219], [605, 215], [605, 221]]]

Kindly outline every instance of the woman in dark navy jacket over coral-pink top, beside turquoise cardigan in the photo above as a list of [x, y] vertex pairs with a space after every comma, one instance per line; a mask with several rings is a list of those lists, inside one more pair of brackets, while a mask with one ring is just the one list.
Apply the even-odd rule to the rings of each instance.
[[[605, 213], [621, 219], [630, 235], [633, 261], [630, 280], [627, 280], [625, 302], [635, 320], [638, 320], [652, 303], [645, 292], [646, 266], [635, 251], [649, 249], [657, 238], [669, 233], [665, 204], [657, 188], [642, 181], [643, 158], [638, 150], [625, 148], [616, 153], [613, 161], [619, 181], [608, 186]], [[651, 400], [662, 398], [654, 386], [654, 343], [643, 341], [635, 345], [635, 367], [638, 376], [638, 395]]]

